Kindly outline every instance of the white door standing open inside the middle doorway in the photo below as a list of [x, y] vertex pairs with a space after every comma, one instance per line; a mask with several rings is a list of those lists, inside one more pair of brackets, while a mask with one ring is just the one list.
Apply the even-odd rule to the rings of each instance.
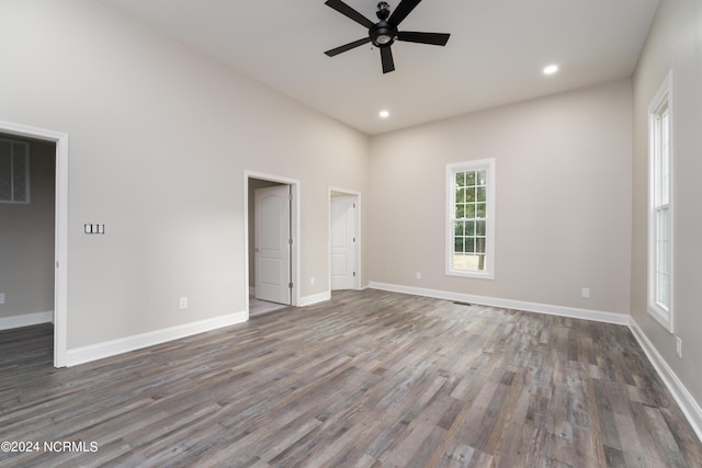
[[257, 299], [291, 304], [290, 185], [253, 191], [253, 261]]

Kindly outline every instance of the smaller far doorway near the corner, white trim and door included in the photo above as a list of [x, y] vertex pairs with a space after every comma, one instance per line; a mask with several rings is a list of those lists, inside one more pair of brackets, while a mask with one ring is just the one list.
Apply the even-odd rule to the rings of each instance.
[[329, 284], [331, 290], [360, 289], [361, 195], [329, 190]]

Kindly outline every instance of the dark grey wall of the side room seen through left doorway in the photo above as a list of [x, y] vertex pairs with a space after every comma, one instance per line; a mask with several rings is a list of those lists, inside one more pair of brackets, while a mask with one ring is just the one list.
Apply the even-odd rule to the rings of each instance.
[[54, 310], [55, 180], [54, 144], [31, 141], [31, 203], [0, 203], [0, 318]]

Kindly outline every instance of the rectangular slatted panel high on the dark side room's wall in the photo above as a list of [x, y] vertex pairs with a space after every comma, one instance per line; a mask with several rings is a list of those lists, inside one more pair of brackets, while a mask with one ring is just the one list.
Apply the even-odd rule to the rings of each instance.
[[0, 203], [30, 203], [30, 146], [0, 138]]

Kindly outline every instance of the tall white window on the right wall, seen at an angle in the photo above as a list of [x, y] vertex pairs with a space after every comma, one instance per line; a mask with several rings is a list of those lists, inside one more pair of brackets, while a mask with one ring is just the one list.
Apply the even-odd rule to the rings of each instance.
[[648, 312], [672, 333], [672, 75], [648, 106]]

